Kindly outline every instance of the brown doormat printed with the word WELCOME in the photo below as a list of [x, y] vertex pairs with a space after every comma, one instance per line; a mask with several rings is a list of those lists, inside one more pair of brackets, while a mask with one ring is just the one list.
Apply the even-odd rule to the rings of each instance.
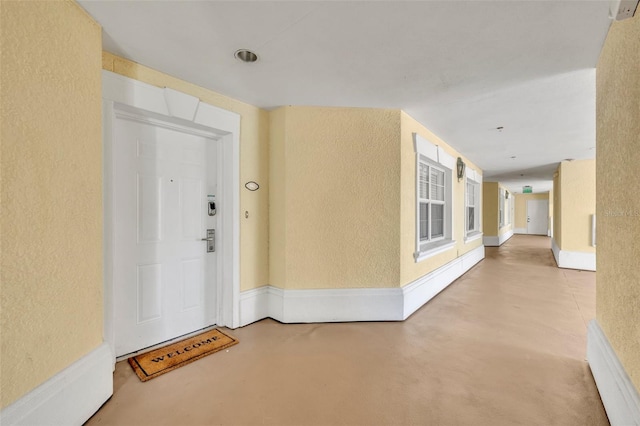
[[218, 329], [129, 358], [129, 365], [140, 380], [146, 382], [180, 368], [214, 352], [233, 346], [238, 341]]

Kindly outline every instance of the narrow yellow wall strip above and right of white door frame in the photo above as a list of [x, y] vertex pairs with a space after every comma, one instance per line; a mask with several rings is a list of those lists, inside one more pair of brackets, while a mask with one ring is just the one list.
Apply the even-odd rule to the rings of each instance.
[[[240, 289], [269, 283], [269, 113], [253, 105], [204, 89], [135, 62], [102, 54], [103, 68], [159, 87], [188, 93], [217, 107], [236, 112], [240, 119]], [[244, 183], [255, 181], [258, 191]], [[245, 218], [244, 212], [249, 212]]]

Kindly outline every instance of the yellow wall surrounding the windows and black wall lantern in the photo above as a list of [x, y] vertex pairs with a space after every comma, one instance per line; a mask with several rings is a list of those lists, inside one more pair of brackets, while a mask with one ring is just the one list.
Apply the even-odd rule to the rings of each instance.
[[[431, 258], [416, 263], [413, 254], [416, 250], [416, 154], [414, 151], [413, 133], [417, 133], [431, 143], [445, 149], [449, 155], [454, 158], [462, 157], [468, 169], [474, 169], [478, 173], [482, 170], [468, 158], [461, 156], [459, 152], [447, 145], [442, 139], [429, 131], [426, 127], [414, 120], [405, 112], [401, 113], [401, 187], [402, 198], [401, 214], [400, 214], [400, 285], [406, 285], [417, 278], [428, 274], [429, 272], [445, 265], [454, 260], [456, 257], [462, 256], [470, 250], [482, 245], [482, 238], [465, 243], [465, 202], [464, 179], [458, 182], [454, 177], [453, 185], [453, 205], [454, 205], [454, 222], [453, 222], [453, 238], [456, 246], [444, 253], [440, 253]], [[453, 173], [455, 174], [455, 170]], [[482, 227], [482, 223], [480, 224]]]

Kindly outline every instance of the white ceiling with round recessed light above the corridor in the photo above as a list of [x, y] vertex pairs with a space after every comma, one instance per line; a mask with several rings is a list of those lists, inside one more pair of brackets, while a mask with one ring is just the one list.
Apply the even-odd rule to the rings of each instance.
[[608, 1], [80, 4], [109, 52], [264, 108], [401, 108], [515, 192], [595, 157]]

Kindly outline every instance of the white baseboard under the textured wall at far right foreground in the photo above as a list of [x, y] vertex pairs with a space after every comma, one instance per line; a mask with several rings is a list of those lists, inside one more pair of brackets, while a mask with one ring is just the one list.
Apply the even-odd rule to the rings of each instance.
[[640, 425], [640, 395], [596, 320], [587, 331], [587, 360], [609, 422]]

